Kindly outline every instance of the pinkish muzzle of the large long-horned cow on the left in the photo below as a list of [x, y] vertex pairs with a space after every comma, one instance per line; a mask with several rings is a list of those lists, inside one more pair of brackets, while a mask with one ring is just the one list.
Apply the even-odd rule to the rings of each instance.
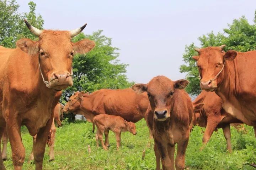
[[67, 71], [53, 72], [49, 83], [46, 85], [49, 88], [60, 91], [71, 87], [73, 85], [73, 80], [71, 74]]

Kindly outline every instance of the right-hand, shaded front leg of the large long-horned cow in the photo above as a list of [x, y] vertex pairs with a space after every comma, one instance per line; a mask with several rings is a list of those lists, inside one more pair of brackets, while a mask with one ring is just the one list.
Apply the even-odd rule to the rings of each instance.
[[34, 145], [34, 160], [36, 170], [43, 169], [43, 157], [46, 148], [46, 142], [49, 136], [50, 127], [52, 126], [53, 116], [47, 121], [46, 126], [41, 128], [37, 133], [36, 142]]

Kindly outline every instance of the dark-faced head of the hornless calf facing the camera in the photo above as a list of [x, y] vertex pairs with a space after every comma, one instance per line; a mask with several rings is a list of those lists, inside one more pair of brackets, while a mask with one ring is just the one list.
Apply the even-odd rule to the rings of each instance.
[[157, 76], [148, 84], [135, 84], [132, 89], [138, 93], [148, 92], [148, 98], [154, 118], [164, 121], [170, 117], [174, 104], [176, 89], [184, 89], [188, 85], [187, 80], [172, 81], [164, 76]]

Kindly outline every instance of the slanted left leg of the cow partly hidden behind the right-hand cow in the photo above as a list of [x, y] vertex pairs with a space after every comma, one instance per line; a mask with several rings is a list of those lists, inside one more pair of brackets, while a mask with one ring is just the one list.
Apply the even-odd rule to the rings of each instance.
[[217, 125], [220, 123], [220, 120], [216, 120], [213, 117], [210, 117], [207, 119], [207, 125], [206, 125], [206, 130], [203, 135], [203, 146], [200, 148], [202, 151], [206, 144], [209, 142], [210, 137], [213, 134], [213, 131], [216, 129]]

